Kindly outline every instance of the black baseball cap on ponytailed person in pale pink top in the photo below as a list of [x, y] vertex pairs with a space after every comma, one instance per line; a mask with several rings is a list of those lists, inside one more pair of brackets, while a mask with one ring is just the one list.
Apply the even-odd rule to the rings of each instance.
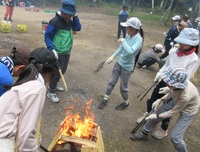
[[37, 48], [30, 53], [29, 62], [42, 64], [46, 68], [57, 66], [57, 60], [52, 51], [46, 48]]

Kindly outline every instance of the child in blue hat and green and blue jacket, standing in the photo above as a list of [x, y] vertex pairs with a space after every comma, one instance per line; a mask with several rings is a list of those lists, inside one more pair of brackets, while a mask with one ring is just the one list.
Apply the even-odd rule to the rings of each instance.
[[[47, 48], [52, 51], [58, 60], [62, 73], [67, 70], [70, 53], [73, 46], [73, 31], [80, 31], [81, 23], [77, 15], [76, 4], [72, 0], [64, 0], [60, 11], [49, 21], [44, 39]], [[58, 84], [60, 74], [55, 71], [53, 79], [49, 82], [47, 96], [56, 103], [59, 98], [55, 91], [64, 91]]]

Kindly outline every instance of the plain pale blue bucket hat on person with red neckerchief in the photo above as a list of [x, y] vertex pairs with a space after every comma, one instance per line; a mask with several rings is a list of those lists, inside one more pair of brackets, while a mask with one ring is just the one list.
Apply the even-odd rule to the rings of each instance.
[[180, 44], [197, 46], [199, 45], [199, 31], [193, 28], [184, 28], [174, 41]]

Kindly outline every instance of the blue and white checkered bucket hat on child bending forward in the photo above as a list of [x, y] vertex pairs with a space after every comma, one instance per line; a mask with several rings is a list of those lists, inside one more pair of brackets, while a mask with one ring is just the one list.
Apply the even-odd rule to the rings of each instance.
[[169, 86], [184, 89], [187, 86], [187, 70], [179, 66], [169, 67], [163, 74], [161, 78]]

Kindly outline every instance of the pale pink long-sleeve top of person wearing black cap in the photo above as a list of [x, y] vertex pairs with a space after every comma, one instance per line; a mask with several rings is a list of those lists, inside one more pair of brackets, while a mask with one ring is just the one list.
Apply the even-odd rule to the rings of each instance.
[[0, 98], [0, 139], [17, 136], [20, 152], [38, 152], [36, 124], [46, 98], [41, 75], [39, 79], [12, 87]]

